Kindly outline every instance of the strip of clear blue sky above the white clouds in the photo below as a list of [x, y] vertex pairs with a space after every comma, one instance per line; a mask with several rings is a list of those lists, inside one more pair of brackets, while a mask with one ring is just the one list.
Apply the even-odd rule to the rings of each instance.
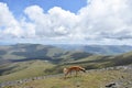
[[64, 10], [69, 10], [74, 13], [85, 6], [87, 0], [0, 0], [9, 6], [9, 9], [15, 16], [23, 14], [26, 7], [37, 4], [47, 12], [53, 7], [61, 7]]

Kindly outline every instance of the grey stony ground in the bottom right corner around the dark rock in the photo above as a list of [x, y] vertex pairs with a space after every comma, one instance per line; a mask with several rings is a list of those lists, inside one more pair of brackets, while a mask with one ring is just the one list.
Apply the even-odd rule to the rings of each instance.
[[[108, 82], [106, 88], [132, 88], [132, 66], [117, 66], [103, 68], [101, 70], [122, 70], [125, 76], [121, 76], [119, 79]], [[103, 88], [103, 87], [102, 87]]]

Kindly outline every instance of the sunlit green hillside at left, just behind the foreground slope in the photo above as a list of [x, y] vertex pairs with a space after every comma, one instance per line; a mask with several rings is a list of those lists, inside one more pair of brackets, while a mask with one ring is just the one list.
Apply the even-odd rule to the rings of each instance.
[[0, 67], [0, 82], [46, 75], [44, 70], [54, 65], [45, 61], [13, 63]]

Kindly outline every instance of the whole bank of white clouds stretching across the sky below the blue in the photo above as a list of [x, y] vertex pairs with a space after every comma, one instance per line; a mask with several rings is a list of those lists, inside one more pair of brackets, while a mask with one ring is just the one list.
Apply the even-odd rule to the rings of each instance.
[[132, 43], [132, 1], [88, 0], [77, 13], [54, 7], [47, 12], [26, 7], [18, 21], [6, 3], [0, 3], [1, 36], [51, 40], [63, 43]]

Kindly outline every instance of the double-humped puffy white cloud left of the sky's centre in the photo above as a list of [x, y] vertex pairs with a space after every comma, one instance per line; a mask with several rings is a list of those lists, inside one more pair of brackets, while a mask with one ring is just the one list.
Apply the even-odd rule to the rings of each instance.
[[55, 7], [44, 13], [38, 6], [28, 7], [25, 14], [33, 21], [37, 36], [56, 37], [67, 35], [75, 26], [76, 15], [69, 11], [65, 11]]

